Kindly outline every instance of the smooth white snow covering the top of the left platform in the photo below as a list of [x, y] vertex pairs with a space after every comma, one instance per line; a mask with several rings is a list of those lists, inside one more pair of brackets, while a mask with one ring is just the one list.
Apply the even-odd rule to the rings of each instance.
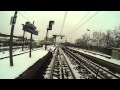
[[35, 62], [45, 56], [48, 51], [37, 50], [32, 52], [32, 58], [29, 53], [13, 57], [14, 66], [10, 66], [9, 58], [0, 61], [0, 79], [14, 79], [26, 71]]

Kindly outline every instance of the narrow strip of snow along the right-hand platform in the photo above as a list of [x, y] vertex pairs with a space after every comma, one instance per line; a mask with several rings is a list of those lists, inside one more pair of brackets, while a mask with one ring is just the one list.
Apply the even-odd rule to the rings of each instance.
[[[71, 47], [68, 47], [68, 48], [71, 48]], [[117, 59], [113, 59], [113, 58], [108, 59], [108, 58], [106, 58], [106, 57], [100, 56], [99, 54], [98, 54], [98, 55], [94, 55], [94, 54], [92, 54], [92, 53], [88, 53], [88, 52], [85, 52], [85, 51], [80, 50], [80, 49], [77, 49], [77, 48], [71, 48], [71, 49], [74, 49], [74, 50], [79, 51], [79, 52], [84, 53], [84, 54], [88, 54], [88, 55], [91, 55], [91, 56], [100, 58], [100, 59], [102, 59], [102, 60], [105, 60], [105, 61], [108, 61], [108, 62], [117, 64], [117, 65], [120, 65], [120, 60], [117, 60]]]

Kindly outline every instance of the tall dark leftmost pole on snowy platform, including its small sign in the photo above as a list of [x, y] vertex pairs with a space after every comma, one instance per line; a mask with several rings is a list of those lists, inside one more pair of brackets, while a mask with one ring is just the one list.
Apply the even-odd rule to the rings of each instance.
[[9, 52], [10, 52], [10, 66], [13, 66], [13, 55], [12, 55], [12, 51], [13, 51], [13, 33], [14, 33], [14, 26], [15, 26], [15, 23], [16, 23], [16, 19], [17, 19], [17, 11], [15, 11], [14, 13], [14, 16], [11, 18], [11, 35], [10, 35], [10, 49], [9, 49]]

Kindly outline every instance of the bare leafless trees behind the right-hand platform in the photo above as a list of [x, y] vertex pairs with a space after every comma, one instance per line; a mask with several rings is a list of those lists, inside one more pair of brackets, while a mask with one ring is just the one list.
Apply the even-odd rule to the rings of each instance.
[[[120, 48], [120, 26], [114, 30], [96, 30], [90, 36], [85, 33], [81, 38], [78, 38], [75, 43], [80, 48], [84, 49], [96, 49], [100, 51], [103, 48]], [[105, 49], [104, 49], [105, 50]]]

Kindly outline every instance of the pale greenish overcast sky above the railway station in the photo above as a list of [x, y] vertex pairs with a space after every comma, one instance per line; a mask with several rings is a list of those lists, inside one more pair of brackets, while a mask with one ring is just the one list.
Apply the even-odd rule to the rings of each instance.
[[[101, 30], [105, 32], [108, 29], [114, 30], [115, 27], [120, 26], [120, 11], [101, 11], [93, 18], [91, 18], [81, 28], [75, 31], [77, 27], [73, 27], [78, 22], [80, 22], [78, 25], [79, 27], [98, 11], [91, 11], [90, 13], [89, 12], [90, 11], [67, 11], [62, 34], [65, 36], [67, 35], [68, 41], [70, 41], [70, 38], [72, 38], [73, 42], [75, 39], [81, 37], [83, 34], [88, 33], [87, 29], [90, 29], [90, 33], [92, 34], [92, 32], [96, 30]], [[86, 14], [87, 16], [82, 19]], [[13, 15], [14, 11], [0, 11], [0, 33], [10, 34], [10, 18]], [[33, 36], [34, 39], [42, 40], [45, 37], [46, 28], [49, 20], [55, 21], [52, 31], [49, 31], [49, 37], [51, 37], [53, 34], [60, 34], [64, 15], [65, 11], [18, 11], [14, 35], [22, 36], [23, 30], [21, 24], [25, 24], [26, 21], [33, 22], [33, 20], [35, 21], [35, 26], [40, 31], [38, 36]], [[74, 33], [70, 34], [71, 32]], [[29, 33], [27, 33], [26, 36], [30, 38]], [[57, 40], [64, 41], [64, 39]]]

